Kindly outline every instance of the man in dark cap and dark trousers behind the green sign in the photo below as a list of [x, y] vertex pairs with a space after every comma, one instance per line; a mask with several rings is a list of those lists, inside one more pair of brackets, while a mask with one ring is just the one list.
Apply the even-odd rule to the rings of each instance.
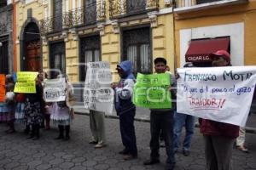
[[[166, 59], [165, 58], [156, 58], [154, 59], [154, 69], [157, 74], [166, 72]], [[166, 73], [169, 74], [169, 73]], [[176, 80], [175, 77], [172, 77], [171, 86], [175, 86]], [[175, 92], [171, 90], [172, 99], [175, 99]], [[170, 109], [169, 109], [170, 108]], [[173, 114], [175, 111], [175, 103], [170, 103], [169, 108], [163, 109], [151, 109], [150, 112], [150, 159], [144, 161], [144, 165], [152, 165], [160, 162], [160, 131], [163, 132], [163, 137], [166, 143], [166, 169], [172, 170], [175, 166], [175, 157], [173, 150]]]

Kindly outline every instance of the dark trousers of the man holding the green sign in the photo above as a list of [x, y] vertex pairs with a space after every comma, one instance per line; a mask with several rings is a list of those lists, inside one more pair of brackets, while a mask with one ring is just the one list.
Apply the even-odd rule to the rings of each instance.
[[163, 139], [166, 143], [166, 163], [174, 164], [173, 150], [173, 111], [151, 111], [150, 113], [150, 149], [151, 159], [159, 160], [160, 154], [160, 131], [162, 130]]

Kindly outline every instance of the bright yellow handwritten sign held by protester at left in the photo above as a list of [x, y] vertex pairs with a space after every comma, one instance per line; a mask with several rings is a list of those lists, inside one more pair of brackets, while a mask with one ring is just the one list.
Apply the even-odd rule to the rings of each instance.
[[15, 93], [36, 94], [36, 77], [38, 72], [20, 71], [17, 72], [17, 82], [15, 83]]

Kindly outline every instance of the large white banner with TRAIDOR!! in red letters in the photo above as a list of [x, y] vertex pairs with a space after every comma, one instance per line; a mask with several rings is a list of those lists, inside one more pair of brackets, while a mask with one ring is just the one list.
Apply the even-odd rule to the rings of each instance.
[[244, 127], [256, 66], [178, 69], [177, 112]]

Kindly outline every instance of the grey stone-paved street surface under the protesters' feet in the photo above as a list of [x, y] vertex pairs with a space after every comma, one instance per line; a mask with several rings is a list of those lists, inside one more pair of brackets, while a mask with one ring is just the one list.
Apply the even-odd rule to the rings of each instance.
[[[119, 133], [119, 120], [106, 119], [108, 147], [94, 149], [88, 144], [90, 140], [89, 116], [76, 115], [71, 126], [71, 140], [57, 141], [57, 128], [42, 130], [41, 139], [26, 139], [21, 133], [23, 128], [17, 124], [17, 133], [5, 134], [5, 124], [0, 124], [0, 170], [23, 169], [72, 169], [72, 170], [143, 170], [164, 169], [165, 149], [160, 149], [161, 163], [154, 166], [143, 166], [148, 159], [149, 123], [136, 122], [138, 159], [124, 161], [117, 154], [123, 149]], [[201, 134], [195, 128], [191, 146], [191, 155], [183, 156], [181, 151], [176, 155], [176, 170], [203, 170], [205, 167], [204, 145]], [[250, 153], [234, 150], [233, 161], [235, 170], [256, 170], [256, 135], [247, 133], [247, 145]]]

